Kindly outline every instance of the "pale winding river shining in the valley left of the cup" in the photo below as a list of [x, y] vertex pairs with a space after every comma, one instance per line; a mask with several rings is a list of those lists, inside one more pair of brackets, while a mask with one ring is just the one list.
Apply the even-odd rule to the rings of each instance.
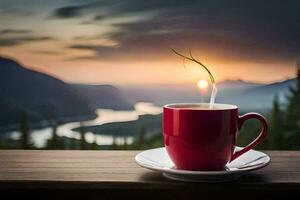
[[[105, 123], [112, 122], [124, 122], [124, 121], [134, 121], [139, 118], [140, 115], [150, 114], [157, 115], [162, 112], [160, 107], [154, 106], [152, 103], [139, 102], [134, 105], [134, 110], [117, 111], [108, 109], [97, 109], [97, 117], [93, 120], [84, 121], [85, 126], [95, 126]], [[81, 139], [80, 133], [73, 131], [72, 129], [80, 127], [80, 122], [70, 122], [66, 124], [59, 125], [57, 127], [57, 135], [61, 137], [74, 138], [77, 140]], [[31, 139], [33, 144], [37, 148], [43, 148], [46, 145], [48, 139], [52, 137], [52, 128], [46, 127], [38, 130], [31, 131]], [[20, 132], [13, 131], [8, 133], [12, 139], [19, 139]], [[96, 142], [98, 145], [111, 145], [113, 143], [112, 135], [99, 135], [92, 132], [85, 133], [85, 140], [88, 143]], [[118, 145], [124, 144], [124, 137], [116, 137], [115, 142]], [[127, 144], [132, 144], [134, 142], [134, 137], [126, 137]]]

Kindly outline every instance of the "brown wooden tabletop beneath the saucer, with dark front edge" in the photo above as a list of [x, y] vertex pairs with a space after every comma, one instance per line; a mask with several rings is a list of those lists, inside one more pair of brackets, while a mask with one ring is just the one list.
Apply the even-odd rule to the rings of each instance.
[[227, 183], [185, 183], [139, 167], [138, 151], [0, 151], [1, 197], [253, 199], [300, 196], [300, 151], [266, 151], [271, 164]]

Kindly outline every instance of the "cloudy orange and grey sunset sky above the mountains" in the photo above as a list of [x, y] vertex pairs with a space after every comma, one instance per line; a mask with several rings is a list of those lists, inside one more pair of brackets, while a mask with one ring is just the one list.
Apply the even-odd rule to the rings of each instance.
[[[300, 1], [1, 0], [0, 56], [66, 82], [269, 83], [295, 76]], [[185, 67], [184, 67], [185, 66]]]

